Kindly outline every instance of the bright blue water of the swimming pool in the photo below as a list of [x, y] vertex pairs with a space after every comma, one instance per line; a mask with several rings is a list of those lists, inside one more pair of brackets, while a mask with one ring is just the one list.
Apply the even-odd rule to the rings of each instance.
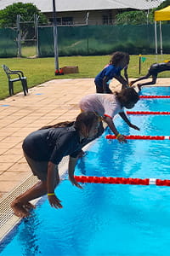
[[[144, 88], [143, 95], [170, 95], [169, 88]], [[140, 100], [133, 110], [170, 111], [170, 99]], [[169, 110], [168, 110], [169, 108]], [[116, 118], [122, 134], [170, 135], [170, 115], [130, 115], [140, 131]], [[170, 179], [170, 141], [108, 141], [105, 135], [78, 161], [76, 174]], [[170, 188], [155, 185], [83, 184], [67, 180], [56, 189], [63, 209], [44, 196], [5, 237], [1, 256], [169, 256]]]

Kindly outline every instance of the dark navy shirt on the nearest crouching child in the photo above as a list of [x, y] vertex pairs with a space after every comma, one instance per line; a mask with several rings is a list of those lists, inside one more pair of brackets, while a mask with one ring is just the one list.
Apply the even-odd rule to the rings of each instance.
[[[102, 132], [100, 126], [96, 137], [99, 137]], [[55, 165], [59, 165], [66, 155], [76, 158], [82, 147], [92, 140], [94, 138], [90, 140], [84, 138], [80, 142], [79, 132], [74, 126], [49, 128], [31, 132], [25, 138], [22, 148], [33, 160], [51, 161]]]

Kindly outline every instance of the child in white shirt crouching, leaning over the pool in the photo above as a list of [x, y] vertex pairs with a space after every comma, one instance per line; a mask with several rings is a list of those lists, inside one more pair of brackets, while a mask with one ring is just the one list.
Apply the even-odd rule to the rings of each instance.
[[93, 111], [102, 119], [115, 134], [119, 143], [127, 143], [125, 136], [120, 134], [114, 124], [114, 117], [118, 113], [127, 125], [135, 130], [140, 130], [138, 126], [133, 125], [127, 119], [124, 108], [133, 108], [139, 101], [139, 94], [134, 88], [122, 89], [120, 92], [115, 91], [113, 94], [95, 93], [83, 96], [79, 102], [79, 108], [82, 111]]

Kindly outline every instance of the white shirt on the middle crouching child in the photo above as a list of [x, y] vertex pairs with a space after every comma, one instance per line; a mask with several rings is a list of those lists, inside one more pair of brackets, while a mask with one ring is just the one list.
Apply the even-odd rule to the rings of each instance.
[[116, 113], [123, 112], [123, 108], [114, 94], [96, 93], [84, 96], [79, 102], [79, 107], [83, 111], [93, 111], [101, 117], [108, 116], [111, 119]]

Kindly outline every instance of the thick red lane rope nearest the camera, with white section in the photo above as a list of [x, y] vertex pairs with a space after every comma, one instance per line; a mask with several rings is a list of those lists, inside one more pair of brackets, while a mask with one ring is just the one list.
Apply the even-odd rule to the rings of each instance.
[[79, 183], [109, 183], [109, 184], [170, 186], [169, 179], [162, 180], [159, 178], [75, 176], [75, 179]]

